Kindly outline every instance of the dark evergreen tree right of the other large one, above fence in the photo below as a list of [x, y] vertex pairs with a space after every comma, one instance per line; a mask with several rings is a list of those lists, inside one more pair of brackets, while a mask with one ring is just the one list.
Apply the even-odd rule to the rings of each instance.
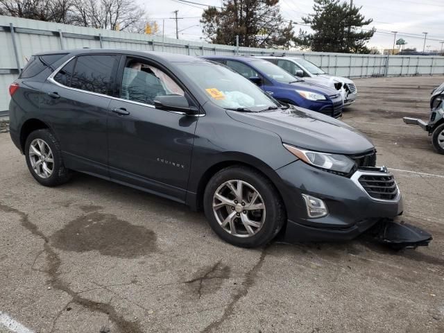
[[362, 29], [373, 22], [359, 13], [362, 7], [350, 6], [339, 0], [314, 0], [314, 14], [302, 17], [314, 33], [300, 31], [296, 44], [312, 51], [368, 53], [366, 42], [376, 29]]

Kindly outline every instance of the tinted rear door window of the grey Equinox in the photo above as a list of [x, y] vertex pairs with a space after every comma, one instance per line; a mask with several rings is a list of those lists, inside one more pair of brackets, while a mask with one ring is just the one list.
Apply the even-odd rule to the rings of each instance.
[[119, 56], [80, 56], [74, 67], [71, 87], [110, 95], [113, 70], [118, 64]]

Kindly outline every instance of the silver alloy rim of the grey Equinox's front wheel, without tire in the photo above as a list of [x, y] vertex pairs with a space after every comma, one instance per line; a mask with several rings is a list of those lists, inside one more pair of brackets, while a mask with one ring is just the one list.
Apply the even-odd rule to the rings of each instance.
[[244, 180], [228, 180], [216, 189], [213, 212], [225, 232], [244, 238], [261, 230], [266, 214], [259, 191]]

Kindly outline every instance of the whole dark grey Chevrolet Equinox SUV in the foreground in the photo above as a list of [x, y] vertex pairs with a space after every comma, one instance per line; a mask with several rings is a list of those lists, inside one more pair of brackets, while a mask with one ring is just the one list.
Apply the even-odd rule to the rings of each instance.
[[61, 185], [81, 171], [164, 196], [203, 209], [236, 246], [281, 230], [286, 241], [352, 239], [402, 213], [365, 135], [281, 104], [221, 64], [115, 49], [40, 53], [10, 95], [10, 136], [37, 182]]

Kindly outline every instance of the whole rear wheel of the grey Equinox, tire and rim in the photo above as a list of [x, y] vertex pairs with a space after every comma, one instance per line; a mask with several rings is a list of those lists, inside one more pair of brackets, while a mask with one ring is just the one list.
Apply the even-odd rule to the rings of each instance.
[[31, 175], [44, 186], [62, 185], [71, 177], [63, 164], [60, 144], [50, 130], [35, 130], [28, 135], [25, 156]]

